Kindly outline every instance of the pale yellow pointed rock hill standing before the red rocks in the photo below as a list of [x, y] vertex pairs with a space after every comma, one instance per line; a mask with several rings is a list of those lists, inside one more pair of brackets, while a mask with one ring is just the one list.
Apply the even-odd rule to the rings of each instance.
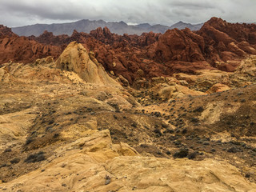
[[71, 42], [56, 61], [58, 69], [74, 71], [86, 82], [119, 86], [113, 78], [110, 78], [94, 54], [88, 54], [87, 50], [77, 42]]

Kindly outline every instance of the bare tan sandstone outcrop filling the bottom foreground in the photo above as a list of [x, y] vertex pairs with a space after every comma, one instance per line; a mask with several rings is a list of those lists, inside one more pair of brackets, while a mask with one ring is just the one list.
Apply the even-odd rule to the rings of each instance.
[[[206, 159], [141, 157], [125, 143], [113, 144], [109, 130], [92, 130], [55, 150], [51, 162], [8, 183], [6, 191], [255, 191], [234, 166]], [[42, 171], [43, 170], [43, 171]]]

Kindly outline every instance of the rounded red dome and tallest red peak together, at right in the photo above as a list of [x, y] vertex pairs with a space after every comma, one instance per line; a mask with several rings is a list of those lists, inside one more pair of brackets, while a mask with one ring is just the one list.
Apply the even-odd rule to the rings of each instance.
[[254, 24], [231, 24], [211, 18], [197, 33], [189, 29], [167, 30], [156, 45], [148, 47], [147, 56], [178, 71], [193, 72], [210, 66], [234, 71], [241, 58], [256, 54], [255, 31]]

